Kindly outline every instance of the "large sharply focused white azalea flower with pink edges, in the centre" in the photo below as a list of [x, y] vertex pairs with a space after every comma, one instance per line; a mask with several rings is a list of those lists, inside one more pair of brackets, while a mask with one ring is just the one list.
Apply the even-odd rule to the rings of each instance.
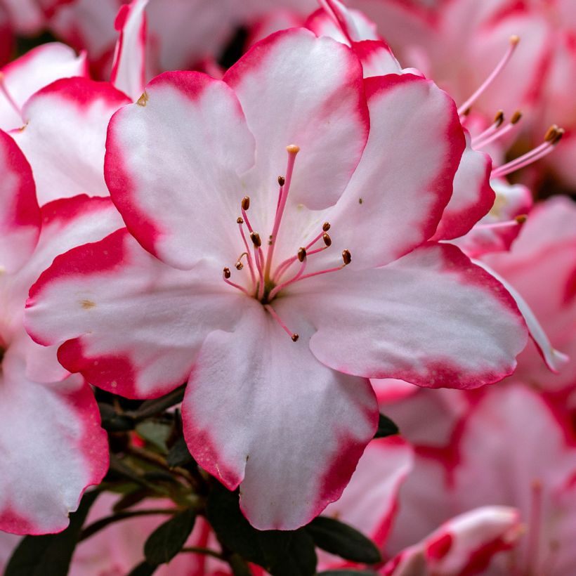
[[162, 74], [110, 122], [127, 230], [55, 260], [30, 334], [130, 398], [188, 380], [197, 462], [240, 485], [256, 528], [296, 528], [372, 438], [368, 377], [476, 387], [525, 345], [501, 284], [426, 243], [463, 150], [430, 81], [363, 82], [349, 48], [306, 30], [256, 44], [223, 81]]

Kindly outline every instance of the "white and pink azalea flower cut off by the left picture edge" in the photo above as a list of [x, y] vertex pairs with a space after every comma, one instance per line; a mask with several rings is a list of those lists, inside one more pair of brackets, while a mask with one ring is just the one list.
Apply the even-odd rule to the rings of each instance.
[[0, 530], [63, 530], [84, 489], [107, 470], [91, 388], [34, 343], [22, 325], [28, 288], [54, 256], [118, 228], [110, 199], [76, 197], [39, 209], [32, 171], [0, 131]]

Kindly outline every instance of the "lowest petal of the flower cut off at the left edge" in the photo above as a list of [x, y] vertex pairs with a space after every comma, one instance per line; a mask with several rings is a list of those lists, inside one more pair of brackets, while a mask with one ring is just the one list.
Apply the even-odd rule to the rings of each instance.
[[77, 376], [58, 385], [29, 381], [13, 347], [2, 362], [0, 395], [0, 530], [60, 532], [108, 467], [93, 393]]

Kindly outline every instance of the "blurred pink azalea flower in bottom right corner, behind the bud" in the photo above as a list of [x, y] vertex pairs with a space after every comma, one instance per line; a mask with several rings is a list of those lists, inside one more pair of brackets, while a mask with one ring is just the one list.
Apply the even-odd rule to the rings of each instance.
[[507, 386], [476, 395], [449, 445], [436, 450], [420, 445], [416, 454], [414, 472], [400, 493], [389, 553], [426, 537], [454, 514], [515, 506], [523, 536], [495, 556], [488, 573], [570, 573], [576, 452], [568, 419], [546, 397], [512, 377]]

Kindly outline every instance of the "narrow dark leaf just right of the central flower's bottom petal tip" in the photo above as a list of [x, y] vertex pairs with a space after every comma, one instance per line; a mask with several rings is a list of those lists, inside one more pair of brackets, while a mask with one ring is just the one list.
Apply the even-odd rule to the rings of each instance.
[[330, 554], [364, 564], [375, 564], [382, 559], [372, 540], [334, 518], [318, 516], [306, 525], [306, 530], [316, 546]]

